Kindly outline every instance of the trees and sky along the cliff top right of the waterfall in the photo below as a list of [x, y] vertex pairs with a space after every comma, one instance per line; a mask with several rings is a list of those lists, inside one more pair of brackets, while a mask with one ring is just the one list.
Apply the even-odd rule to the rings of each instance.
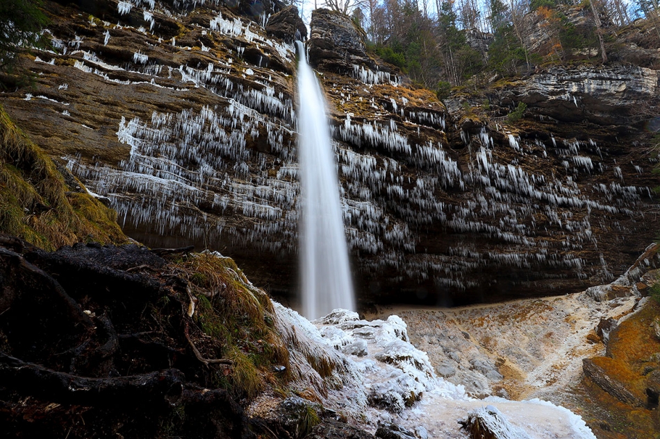
[[326, 0], [322, 6], [351, 15], [372, 51], [440, 97], [451, 87], [478, 87], [550, 64], [607, 62], [616, 51], [608, 43], [642, 17], [645, 43], [660, 42], [655, 0]]

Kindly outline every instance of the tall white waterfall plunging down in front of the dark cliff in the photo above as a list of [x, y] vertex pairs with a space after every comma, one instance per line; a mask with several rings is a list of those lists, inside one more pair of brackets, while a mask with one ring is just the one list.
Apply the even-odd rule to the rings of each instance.
[[336, 308], [355, 310], [339, 180], [325, 102], [302, 42], [298, 63], [298, 146], [302, 186], [302, 313], [312, 320]]

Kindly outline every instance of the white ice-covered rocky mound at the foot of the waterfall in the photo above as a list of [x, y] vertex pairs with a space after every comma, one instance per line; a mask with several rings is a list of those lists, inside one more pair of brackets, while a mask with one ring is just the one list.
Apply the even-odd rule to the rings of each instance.
[[[468, 397], [463, 386], [436, 377], [427, 354], [409, 343], [406, 322], [398, 316], [368, 321], [335, 309], [309, 322], [279, 304], [275, 308], [290, 350], [295, 344], [291, 367], [301, 386], [325, 388], [324, 406], [372, 433], [396, 424], [420, 439], [465, 439], [459, 421], [479, 415], [498, 438], [595, 439], [579, 416], [550, 402]], [[329, 361], [333, 375], [320, 377], [311, 359]]]

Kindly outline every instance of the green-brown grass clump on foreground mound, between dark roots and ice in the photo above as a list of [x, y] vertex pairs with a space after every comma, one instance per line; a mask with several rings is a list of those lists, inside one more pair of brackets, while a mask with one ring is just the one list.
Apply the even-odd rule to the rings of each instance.
[[[217, 253], [188, 255], [176, 269], [190, 282], [197, 300], [193, 320], [195, 345], [206, 358], [233, 361], [215, 368], [215, 384], [241, 396], [254, 397], [267, 386], [290, 379], [289, 352], [275, 327], [270, 298], [252, 286], [233, 259]], [[274, 372], [273, 366], [284, 366]]]

